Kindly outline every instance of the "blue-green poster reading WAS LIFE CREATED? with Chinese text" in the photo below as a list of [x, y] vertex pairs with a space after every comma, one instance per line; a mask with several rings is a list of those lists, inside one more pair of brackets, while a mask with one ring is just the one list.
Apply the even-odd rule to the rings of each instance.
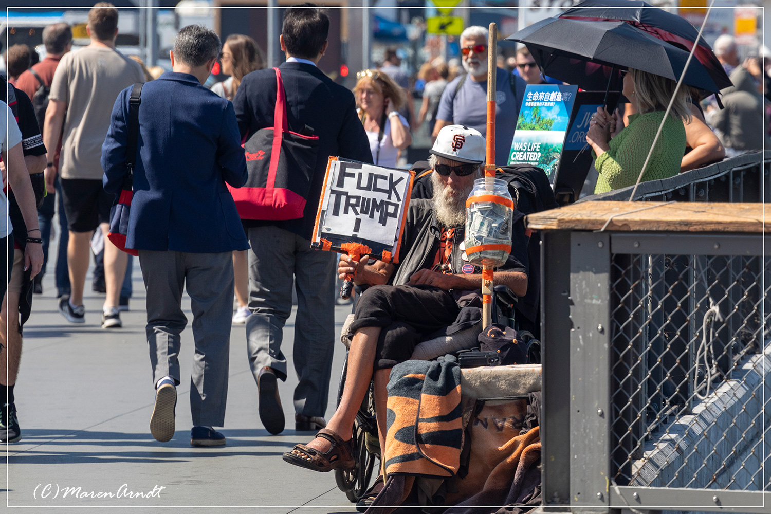
[[509, 164], [538, 166], [554, 181], [577, 90], [577, 86], [527, 85]]

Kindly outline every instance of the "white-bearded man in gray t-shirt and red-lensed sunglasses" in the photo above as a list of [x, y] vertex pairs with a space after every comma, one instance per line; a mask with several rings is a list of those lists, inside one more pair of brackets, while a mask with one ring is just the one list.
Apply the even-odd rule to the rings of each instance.
[[[460, 35], [463, 68], [460, 76], [447, 84], [439, 100], [433, 138], [444, 126], [463, 125], [487, 135], [487, 29], [472, 25]], [[463, 84], [458, 89], [459, 83]], [[496, 74], [495, 160], [506, 164], [511, 140], [517, 128], [520, 106], [527, 83], [498, 68]]]

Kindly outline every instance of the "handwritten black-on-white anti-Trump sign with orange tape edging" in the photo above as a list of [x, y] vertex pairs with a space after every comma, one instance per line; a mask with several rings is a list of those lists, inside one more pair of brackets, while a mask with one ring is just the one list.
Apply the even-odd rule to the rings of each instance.
[[315, 246], [360, 243], [372, 255], [396, 261], [414, 176], [408, 170], [330, 157], [313, 230]]

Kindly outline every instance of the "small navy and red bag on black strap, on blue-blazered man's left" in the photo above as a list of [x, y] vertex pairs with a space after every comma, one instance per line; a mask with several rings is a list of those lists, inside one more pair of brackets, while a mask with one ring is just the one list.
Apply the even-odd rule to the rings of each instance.
[[118, 247], [118, 250], [123, 250], [126, 254], [131, 255], [139, 255], [138, 251], [126, 248], [126, 235], [129, 232], [131, 199], [134, 195], [134, 165], [136, 164], [136, 139], [139, 138], [140, 133], [142, 86], [142, 82], [136, 82], [129, 97], [129, 133], [126, 141], [126, 170], [128, 173], [123, 180], [123, 189], [116, 196], [113, 207], [109, 209], [109, 231], [107, 232], [107, 239]]

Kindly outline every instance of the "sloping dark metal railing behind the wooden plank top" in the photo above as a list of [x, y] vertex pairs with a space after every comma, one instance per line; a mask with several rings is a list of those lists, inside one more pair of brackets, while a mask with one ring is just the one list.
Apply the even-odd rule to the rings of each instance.
[[[746, 153], [720, 163], [638, 186], [635, 201], [763, 202], [771, 199], [771, 150]], [[634, 187], [581, 198], [627, 201]]]

